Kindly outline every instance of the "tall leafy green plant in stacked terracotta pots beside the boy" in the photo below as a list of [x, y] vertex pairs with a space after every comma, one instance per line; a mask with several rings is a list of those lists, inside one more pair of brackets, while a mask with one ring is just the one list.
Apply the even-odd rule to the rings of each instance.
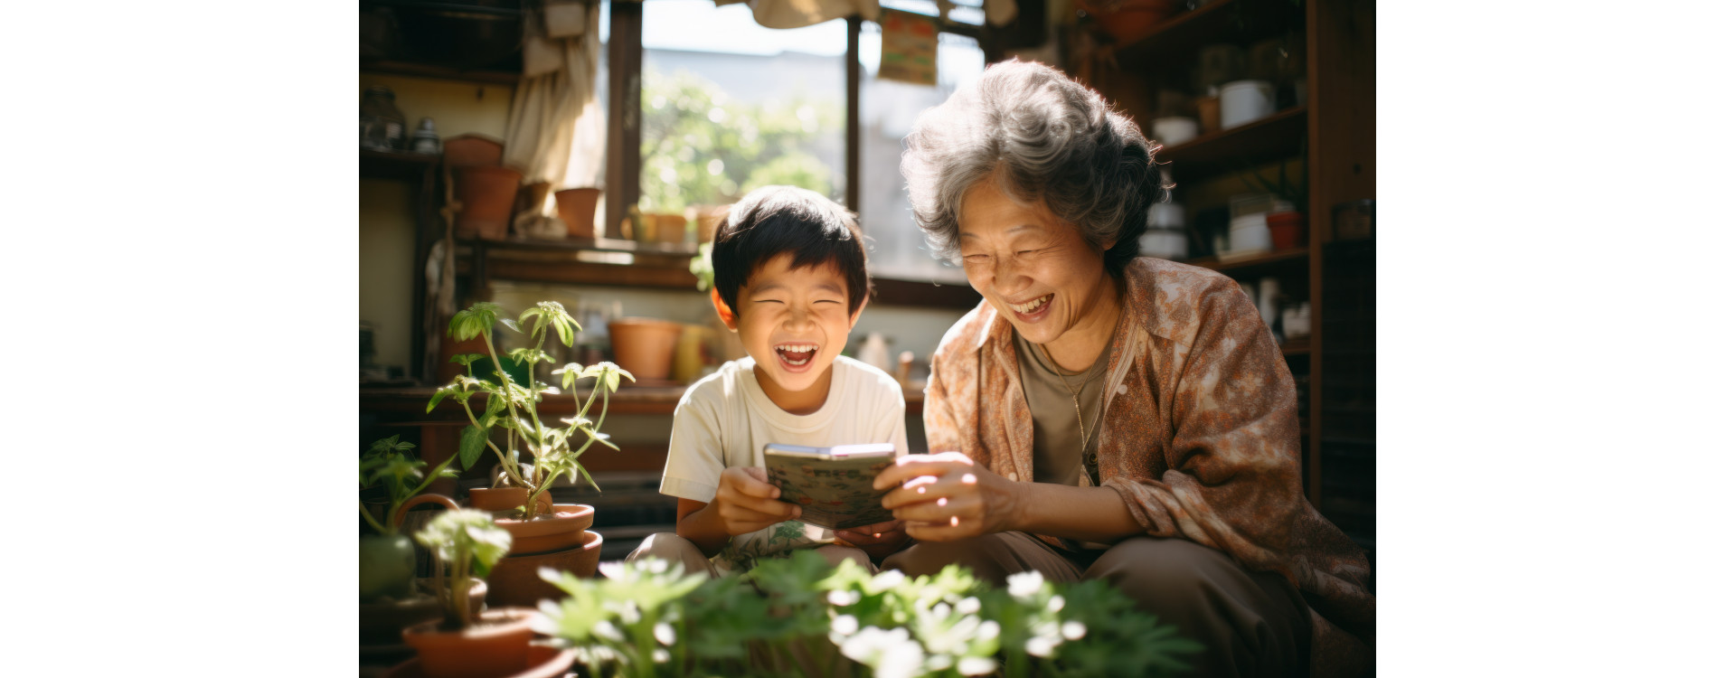
[[[465, 373], [453, 378], [450, 385], [434, 392], [429, 401], [432, 413], [441, 401], [455, 401], [470, 421], [458, 437], [458, 460], [469, 468], [484, 451], [495, 454], [500, 472], [493, 477], [495, 489], [514, 489], [519, 505], [495, 513], [495, 524], [512, 532], [514, 546], [510, 557], [500, 564], [490, 577], [488, 600], [491, 603], [531, 605], [536, 600], [559, 595], [557, 590], [536, 577], [536, 569], [556, 567], [580, 576], [595, 572], [597, 557], [602, 548], [602, 536], [590, 527], [595, 510], [587, 505], [556, 505], [549, 499], [549, 489], [559, 479], [576, 482], [585, 479], [592, 489], [597, 484], [578, 463], [578, 458], [592, 444], [616, 447], [601, 432], [609, 409], [609, 394], [620, 388], [621, 378], [634, 376], [613, 362], [582, 366], [568, 362], [556, 369], [561, 385], [536, 381], [536, 364], [554, 362], [543, 347], [550, 335], [562, 345], [571, 347], [573, 336], [580, 331], [578, 321], [568, 316], [557, 302], [538, 302], [526, 309], [517, 321], [500, 317], [500, 305], [479, 302], [453, 316], [448, 333], [467, 342], [481, 336], [488, 355], [464, 354], [453, 361], [464, 364]], [[502, 362], [495, 347], [491, 329], [502, 324], [512, 331], [529, 333], [529, 345], [505, 352], [507, 361], [524, 368], [529, 383], [517, 383]], [[486, 361], [486, 362], [484, 362]], [[493, 378], [477, 378], [476, 364], [491, 368]], [[578, 381], [592, 380], [587, 397], [580, 397]], [[547, 425], [536, 411], [543, 397], [557, 397], [566, 388], [575, 404], [575, 414], [562, 418], [561, 425]], [[484, 395], [481, 409], [470, 404], [474, 395]], [[601, 395], [601, 404], [599, 404]], [[592, 406], [599, 406], [597, 420], [589, 418]], [[495, 444], [490, 434], [500, 428], [503, 446]], [[582, 440], [582, 442], [580, 442]], [[524, 454], [521, 454], [521, 449]], [[526, 460], [528, 458], [528, 460]]]

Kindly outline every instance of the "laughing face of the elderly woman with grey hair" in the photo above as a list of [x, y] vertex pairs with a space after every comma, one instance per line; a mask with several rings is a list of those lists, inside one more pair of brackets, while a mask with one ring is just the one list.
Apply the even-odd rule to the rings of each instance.
[[990, 180], [965, 192], [958, 215], [965, 277], [1026, 342], [1050, 343], [1113, 302], [1101, 298], [1104, 250], [1043, 206], [1012, 201]]

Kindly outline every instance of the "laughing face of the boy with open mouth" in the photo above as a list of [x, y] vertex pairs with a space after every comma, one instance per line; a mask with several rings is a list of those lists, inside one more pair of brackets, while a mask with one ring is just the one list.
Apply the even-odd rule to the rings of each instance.
[[724, 323], [741, 335], [773, 402], [818, 409], [832, 381], [832, 361], [844, 352], [861, 309], [849, 307], [849, 286], [835, 265], [792, 269], [792, 260], [783, 253], [753, 271], [736, 297], [736, 317]]

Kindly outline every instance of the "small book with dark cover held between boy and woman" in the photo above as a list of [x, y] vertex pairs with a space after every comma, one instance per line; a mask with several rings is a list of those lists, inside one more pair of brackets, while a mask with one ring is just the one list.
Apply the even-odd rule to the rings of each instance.
[[875, 491], [873, 479], [892, 465], [891, 442], [870, 446], [766, 446], [766, 475], [778, 486], [778, 501], [802, 506], [802, 520], [825, 529], [849, 529], [892, 520], [880, 506], [891, 487]]

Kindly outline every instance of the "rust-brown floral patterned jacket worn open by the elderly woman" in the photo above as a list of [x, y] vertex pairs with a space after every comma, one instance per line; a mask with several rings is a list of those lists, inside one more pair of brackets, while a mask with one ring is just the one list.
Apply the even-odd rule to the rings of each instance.
[[[1222, 274], [1156, 258], [1128, 264], [1123, 302], [1099, 423], [1102, 484], [1147, 534], [1290, 579], [1312, 610], [1316, 676], [1364, 671], [1375, 642], [1368, 558], [1302, 496], [1295, 381], [1253, 303]], [[988, 302], [953, 324], [922, 423], [930, 451], [1031, 482], [1012, 333]]]

